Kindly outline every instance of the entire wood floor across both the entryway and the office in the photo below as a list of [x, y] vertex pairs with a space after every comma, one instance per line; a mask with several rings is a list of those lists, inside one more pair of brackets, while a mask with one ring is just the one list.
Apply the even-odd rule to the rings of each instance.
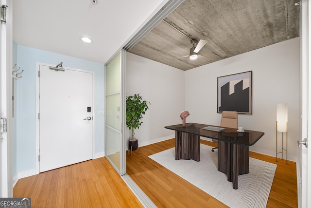
[[[215, 146], [215, 143], [201, 140]], [[163, 168], [148, 156], [174, 147], [174, 139], [144, 146], [127, 154], [127, 174], [159, 208], [226, 207], [204, 191]], [[250, 152], [277, 164], [268, 208], [296, 208], [296, 164]], [[31, 197], [32, 208], [140, 208], [138, 199], [103, 157], [19, 179], [14, 197]]]

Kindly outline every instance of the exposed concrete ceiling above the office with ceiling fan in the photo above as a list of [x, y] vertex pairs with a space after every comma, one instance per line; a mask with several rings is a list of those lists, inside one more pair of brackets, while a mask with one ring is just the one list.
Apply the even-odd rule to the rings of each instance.
[[[185, 0], [129, 52], [189, 70], [298, 37], [297, 2]], [[207, 40], [195, 60], [188, 56], [191, 39]]]

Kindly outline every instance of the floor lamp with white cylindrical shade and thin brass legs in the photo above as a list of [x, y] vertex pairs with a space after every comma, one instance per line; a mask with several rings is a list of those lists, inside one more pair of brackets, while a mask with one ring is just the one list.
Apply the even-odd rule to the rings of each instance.
[[[277, 132], [282, 134], [282, 151], [277, 152]], [[283, 148], [283, 133], [286, 132], [286, 150]], [[276, 162], [277, 154], [282, 153], [283, 160], [283, 151], [286, 151], [286, 164], [287, 164], [287, 103], [278, 103], [276, 105]]]

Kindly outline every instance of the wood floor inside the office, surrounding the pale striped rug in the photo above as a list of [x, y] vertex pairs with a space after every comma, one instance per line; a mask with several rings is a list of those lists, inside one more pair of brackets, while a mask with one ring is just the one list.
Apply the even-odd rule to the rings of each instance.
[[[201, 143], [217, 144], [201, 140]], [[159, 142], [139, 148], [139, 154], [133, 153], [126, 158], [126, 172], [159, 208], [226, 207], [204, 191], [165, 169], [148, 156], [175, 146], [175, 140]], [[216, 153], [216, 152], [215, 152]], [[270, 191], [268, 208], [296, 208], [297, 180], [294, 162], [276, 162], [275, 157], [250, 152], [250, 157], [277, 164], [275, 178]]]

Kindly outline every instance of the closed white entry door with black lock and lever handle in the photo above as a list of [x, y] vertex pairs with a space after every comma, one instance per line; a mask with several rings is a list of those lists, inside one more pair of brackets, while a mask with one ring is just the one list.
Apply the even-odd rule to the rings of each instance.
[[92, 159], [93, 73], [39, 66], [40, 172]]

